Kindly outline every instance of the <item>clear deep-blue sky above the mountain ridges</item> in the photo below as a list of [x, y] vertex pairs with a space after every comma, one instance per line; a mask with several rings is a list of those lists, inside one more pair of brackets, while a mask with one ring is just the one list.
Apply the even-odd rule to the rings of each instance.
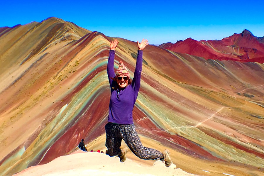
[[90, 31], [151, 44], [192, 38], [221, 40], [248, 29], [264, 36], [264, 0], [80, 0], [0, 3], [0, 27], [55, 16]]

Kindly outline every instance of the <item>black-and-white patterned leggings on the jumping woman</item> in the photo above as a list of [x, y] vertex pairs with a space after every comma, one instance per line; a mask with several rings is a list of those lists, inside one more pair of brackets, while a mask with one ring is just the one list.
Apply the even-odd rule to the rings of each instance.
[[121, 154], [120, 146], [122, 139], [130, 150], [141, 159], [145, 160], [164, 160], [163, 154], [153, 148], [144, 147], [138, 137], [134, 124], [122, 125], [107, 123], [105, 126], [107, 153], [109, 156]]

